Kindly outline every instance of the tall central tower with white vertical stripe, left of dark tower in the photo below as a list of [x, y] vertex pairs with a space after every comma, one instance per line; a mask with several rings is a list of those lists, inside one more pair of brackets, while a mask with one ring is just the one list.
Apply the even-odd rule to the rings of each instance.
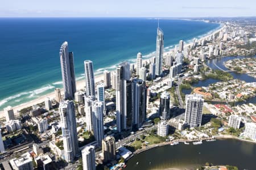
[[115, 76], [117, 130], [119, 132], [132, 128], [132, 82], [130, 78], [130, 63], [121, 63], [117, 67]]

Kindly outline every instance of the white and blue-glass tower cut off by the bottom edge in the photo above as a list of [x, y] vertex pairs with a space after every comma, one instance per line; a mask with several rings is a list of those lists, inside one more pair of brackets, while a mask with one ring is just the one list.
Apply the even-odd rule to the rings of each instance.
[[82, 169], [96, 170], [94, 146], [86, 146], [82, 150]]

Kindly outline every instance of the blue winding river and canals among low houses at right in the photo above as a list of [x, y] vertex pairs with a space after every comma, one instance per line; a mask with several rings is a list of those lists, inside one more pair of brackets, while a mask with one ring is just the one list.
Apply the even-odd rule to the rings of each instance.
[[[256, 57], [256, 56], [254, 56]], [[221, 69], [223, 70], [229, 70], [227, 69], [225, 66], [224, 66], [224, 63], [230, 59], [235, 59], [235, 58], [245, 58], [243, 56], [238, 56], [238, 57], [222, 57], [222, 58], [214, 58], [214, 59], [209, 59], [207, 61], [207, 65], [212, 68], [212, 69], [218, 69], [216, 67], [216, 65], [218, 67], [220, 67]], [[214, 63], [216, 63], [216, 65], [214, 65]], [[240, 80], [243, 80], [247, 83], [250, 83], [250, 82], [256, 82], [256, 79], [253, 77], [253, 76], [249, 76], [247, 74], [241, 74], [241, 73], [236, 73], [236, 72], [230, 72], [230, 74], [233, 75], [233, 78], [234, 79], [240, 79]], [[207, 87], [209, 86], [209, 84], [213, 84], [213, 83], [217, 83], [217, 82], [220, 82], [220, 80], [216, 80], [216, 79], [206, 79], [206, 80], [203, 80], [203, 81], [199, 81], [197, 83], [194, 83], [192, 86], [193, 87]], [[188, 90], [188, 89], [183, 89], [182, 92], [186, 95], [188, 94], [191, 94], [191, 91], [192, 90]], [[215, 102], [213, 101], [212, 102], [213, 104], [217, 104], [217, 103], [220, 103], [220, 102]], [[238, 104], [244, 104], [244, 103], [256, 103], [256, 97], [252, 97], [250, 98], [249, 100], [247, 101], [242, 101], [242, 102], [236, 102], [235, 105], [238, 105]]]

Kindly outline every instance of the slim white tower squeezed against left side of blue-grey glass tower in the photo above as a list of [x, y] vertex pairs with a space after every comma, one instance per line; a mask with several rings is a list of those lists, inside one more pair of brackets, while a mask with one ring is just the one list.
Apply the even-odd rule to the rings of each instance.
[[84, 98], [84, 111], [86, 130], [93, 132], [93, 112], [92, 112], [93, 97], [88, 96]]

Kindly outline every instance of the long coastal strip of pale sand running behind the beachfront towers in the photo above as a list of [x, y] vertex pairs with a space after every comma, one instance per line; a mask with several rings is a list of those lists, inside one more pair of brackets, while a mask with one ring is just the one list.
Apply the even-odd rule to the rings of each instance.
[[[207, 38], [207, 37], [209, 37], [209, 36], [214, 35], [214, 34], [217, 33], [217, 32], [220, 32], [221, 29], [223, 29], [223, 27], [224, 27], [224, 25], [223, 25], [223, 24], [220, 24], [219, 27], [217, 27], [217, 28], [215, 28], [215, 29], [209, 31], [208, 33], [204, 33], [203, 35], [197, 36], [197, 37], [203, 36], [203, 37], [200, 37], [198, 40], [205, 39], [205, 38]], [[193, 37], [192, 39], [189, 39], [188, 41], [191, 41], [191, 40], [193, 40], [193, 39], [195, 39], [195, 38], [196, 38], [196, 37]], [[189, 43], [184, 44], [184, 46], [189, 46], [189, 45], [193, 45], [193, 42], [189, 42]], [[170, 45], [170, 46], [175, 46], [175, 45]], [[172, 47], [172, 48], [168, 49], [168, 51], [164, 52], [164, 53], [163, 53], [163, 57], [166, 56], [168, 53], [170, 53], [171, 50], [174, 50], [174, 47]], [[150, 54], [151, 54], [151, 53], [149, 53], [149, 54], [147, 54], [147, 55], [150, 55]], [[146, 55], [146, 56], [147, 56], [147, 55]], [[149, 59], [151, 59], [151, 57], [149, 57], [149, 58], [142, 58], [142, 61], [148, 61]], [[133, 63], [133, 62], [130, 62], [130, 63]], [[113, 65], [115, 65], [115, 64], [113, 63]], [[102, 69], [104, 69], [104, 68], [102, 68]], [[99, 69], [97, 69], [97, 70], [99, 70]], [[105, 70], [105, 69], [104, 69], [104, 70]], [[113, 72], [113, 70], [109, 70], [109, 71], [110, 71], [111, 73]], [[100, 74], [95, 74], [95, 73], [96, 73], [96, 72], [94, 71], [94, 79], [95, 79], [94, 82], [95, 82], [96, 84], [97, 84], [98, 82], [100, 82], [101, 80], [104, 80], [104, 73], [100, 73]], [[84, 85], [85, 85], [85, 84], [84, 84], [84, 78], [81, 79], [81, 80], [77, 80], [77, 81], [76, 81], [77, 90], [80, 90], [81, 88], [84, 88], [84, 87], [85, 87]], [[63, 94], [63, 88], [61, 88], [61, 94]], [[31, 100], [31, 101], [28, 101], [28, 102], [26, 102], [26, 103], [22, 103], [22, 104], [19, 104], [19, 105], [16, 105], [16, 106], [11, 106], [11, 107], [13, 107], [13, 109], [14, 109], [14, 114], [15, 114], [15, 116], [17, 116], [17, 115], [19, 114], [18, 111], [19, 111], [20, 109], [23, 109], [23, 108], [26, 108], [26, 107], [30, 107], [30, 106], [35, 105], [35, 104], [38, 104], [38, 103], [42, 103], [42, 102], [46, 99], [46, 97], [49, 97], [50, 99], [55, 98], [55, 92], [54, 92], [54, 91], [53, 91], [53, 92], [49, 92], [48, 94], [42, 95], [42, 96], [38, 97], [37, 99]], [[0, 111], [0, 118], [2, 118], [2, 117], [4, 117], [3, 110]]]

